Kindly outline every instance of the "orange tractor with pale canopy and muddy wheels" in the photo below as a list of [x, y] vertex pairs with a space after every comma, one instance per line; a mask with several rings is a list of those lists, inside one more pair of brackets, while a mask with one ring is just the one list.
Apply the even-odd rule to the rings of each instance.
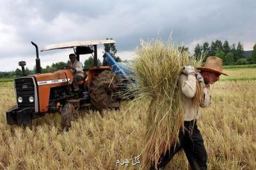
[[[116, 43], [113, 39], [99, 41], [70, 41], [44, 46], [41, 52], [62, 48], [73, 48], [77, 60], [80, 55], [92, 54], [93, 66], [84, 70], [84, 80], [79, 81], [79, 91], [72, 91], [74, 74], [70, 66], [51, 73], [41, 73], [38, 46], [36, 48], [36, 74], [26, 75], [26, 62], [20, 61], [22, 76], [15, 78], [14, 88], [17, 105], [6, 111], [8, 125], [31, 125], [35, 118], [45, 113], [61, 113], [61, 126], [69, 128], [77, 108], [87, 107], [94, 110], [119, 108], [122, 95], [131, 85], [131, 71], [118, 64], [110, 53], [103, 55], [103, 65], [98, 66], [97, 45]], [[87, 72], [87, 74], [86, 74]]]

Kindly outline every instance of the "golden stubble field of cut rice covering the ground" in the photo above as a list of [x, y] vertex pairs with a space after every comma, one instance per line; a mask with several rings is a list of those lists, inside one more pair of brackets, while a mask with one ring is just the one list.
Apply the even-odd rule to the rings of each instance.
[[[211, 87], [212, 104], [198, 122], [208, 167], [256, 169], [256, 68], [224, 72], [230, 76]], [[81, 110], [63, 132], [58, 114], [34, 120], [31, 129], [6, 125], [5, 112], [15, 104], [13, 83], [0, 83], [0, 95], [0, 169], [143, 169], [148, 101], [124, 102], [103, 118]], [[184, 153], [166, 169], [188, 169]]]

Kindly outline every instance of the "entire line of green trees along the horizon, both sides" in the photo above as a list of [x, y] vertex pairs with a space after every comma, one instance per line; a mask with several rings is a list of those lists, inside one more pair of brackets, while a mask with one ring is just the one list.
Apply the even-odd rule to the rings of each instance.
[[[108, 39], [108, 38], [107, 38]], [[111, 38], [110, 38], [111, 39]], [[180, 46], [179, 50], [189, 51], [188, 47]], [[104, 44], [104, 51], [111, 53], [114, 59], [117, 62], [120, 62], [120, 57], [116, 56], [116, 46], [115, 44]], [[253, 53], [250, 57], [244, 56], [244, 49], [241, 42], [237, 45], [228, 43], [225, 40], [223, 43], [217, 39], [216, 41], [212, 41], [211, 45], [207, 41], [203, 43], [203, 45], [197, 44], [194, 50], [194, 57], [200, 57], [200, 55], [204, 55], [205, 59], [208, 56], [216, 56], [220, 57], [223, 60], [223, 65], [239, 65], [239, 64], [256, 64], [256, 43], [253, 46]], [[41, 69], [42, 73], [51, 73], [52, 71], [56, 71], [61, 69], [64, 66], [70, 66], [71, 62], [68, 60], [67, 62], [56, 62], [53, 63], [51, 66], [46, 66]], [[98, 59], [98, 65], [102, 66], [102, 62]], [[88, 59], [84, 60], [83, 62], [84, 69], [89, 69], [93, 66], [93, 57], [90, 56]], [[29, 70], [28, 67], [25, 69], [26, 74], [35, 74], [36, 67], [33, 70]], [[21, 69], [17, 68], [15, 71], [5, 71], [0, 72], [0, 78], [10, 78], [10, 77], [17, 77], [22, 74]]]

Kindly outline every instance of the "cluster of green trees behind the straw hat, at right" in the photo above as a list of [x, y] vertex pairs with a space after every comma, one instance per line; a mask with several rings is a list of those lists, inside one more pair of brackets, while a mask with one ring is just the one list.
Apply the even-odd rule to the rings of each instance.
[[256, 44], [253, 46], [253, 54], [250, 57], [244, 56], [244, 48], [241, 42], [230, 45], [227, 40], [223, 43], [219, 39], [212, 41], [211, 45], [207, 41], [203, 45], [197, 44], [194, 50], [194, 57], [204, 55], [205, 59], [208, 56], [220, 57], [223, 60], [223, 65], [240, 65], [240, 64], [255, 64], [256, 63]]

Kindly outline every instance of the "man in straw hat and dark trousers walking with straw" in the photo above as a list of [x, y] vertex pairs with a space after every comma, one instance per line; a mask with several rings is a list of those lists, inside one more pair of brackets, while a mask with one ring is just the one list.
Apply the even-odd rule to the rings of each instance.
[[[207, 57], [204, 67], [197, 67], [200, 73], [195, 73], [195, 67], [185, 66], [179, 76], [179, 87], [184, 111], [184, 130], [180, 128], [179, 142], [173, 145], [158, 159], [157, 164], [151, 163], [150, 169], [164, 169], [172, 160], [175, 153], [184, 149], [191, 169], [207, 169], [207, 152], [204, 140], [197, 127], [197, 120], [201, 113], [193, 104], [196, 94], [196, 84], [200, 83], [203, 91], [200, 107], [206, 108], [211, 104], [210, 85], [220, 79], [222, 72], [222, 60], [218, 57]], [[156, 166], [157, 165], [157, 166]]]

